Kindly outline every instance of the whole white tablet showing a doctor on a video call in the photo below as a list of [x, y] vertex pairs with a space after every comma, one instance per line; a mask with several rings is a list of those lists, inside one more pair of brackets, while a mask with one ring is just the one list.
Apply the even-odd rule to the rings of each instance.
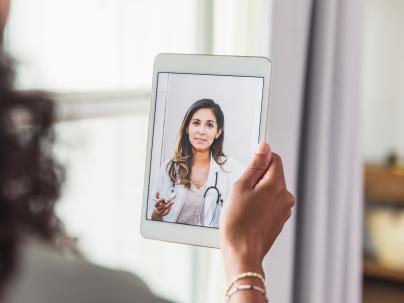
[[271, 62], [160, 54], [153, 72], [141, 234], [219, 247], [235, 181], [267, 136]]

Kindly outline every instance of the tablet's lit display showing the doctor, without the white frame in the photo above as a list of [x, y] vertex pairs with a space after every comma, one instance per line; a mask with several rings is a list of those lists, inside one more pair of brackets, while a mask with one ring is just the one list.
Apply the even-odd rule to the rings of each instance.
[[260, 136], [264, 78], [158, 73], [147, 219], [219, 227]]

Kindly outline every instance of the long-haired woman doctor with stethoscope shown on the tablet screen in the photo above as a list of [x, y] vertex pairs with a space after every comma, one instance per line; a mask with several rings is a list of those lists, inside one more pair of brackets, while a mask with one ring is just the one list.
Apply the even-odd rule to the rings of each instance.
[[223, 152], [224, 115], [211, 99], [185, 114], [174, 156], [152, 197], [152, 220], [218, 227], [220, 211], [243, 166]]

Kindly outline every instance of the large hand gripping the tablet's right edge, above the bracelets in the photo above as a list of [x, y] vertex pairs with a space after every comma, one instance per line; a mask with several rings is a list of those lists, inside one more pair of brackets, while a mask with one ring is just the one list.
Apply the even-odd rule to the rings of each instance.
[[234, 184], [220, 218], [221, 251], [229, 278], [262, 272], [262, 261], [291, 216], [294, 197], [286, 189], [281, 158], [261, 143]]

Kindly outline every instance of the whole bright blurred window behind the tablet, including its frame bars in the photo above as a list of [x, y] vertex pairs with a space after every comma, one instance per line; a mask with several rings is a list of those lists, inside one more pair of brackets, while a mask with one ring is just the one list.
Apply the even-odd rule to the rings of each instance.
[[176, 302], [223, 300], [218, 251], [139, 234], [153, 60], [267, 56], [271, 3], [13, 0], [6, 39], [18, 88], [55, 92], [55, 150], [68, 173], [57, 211], [91, 261], [134, 272]]

